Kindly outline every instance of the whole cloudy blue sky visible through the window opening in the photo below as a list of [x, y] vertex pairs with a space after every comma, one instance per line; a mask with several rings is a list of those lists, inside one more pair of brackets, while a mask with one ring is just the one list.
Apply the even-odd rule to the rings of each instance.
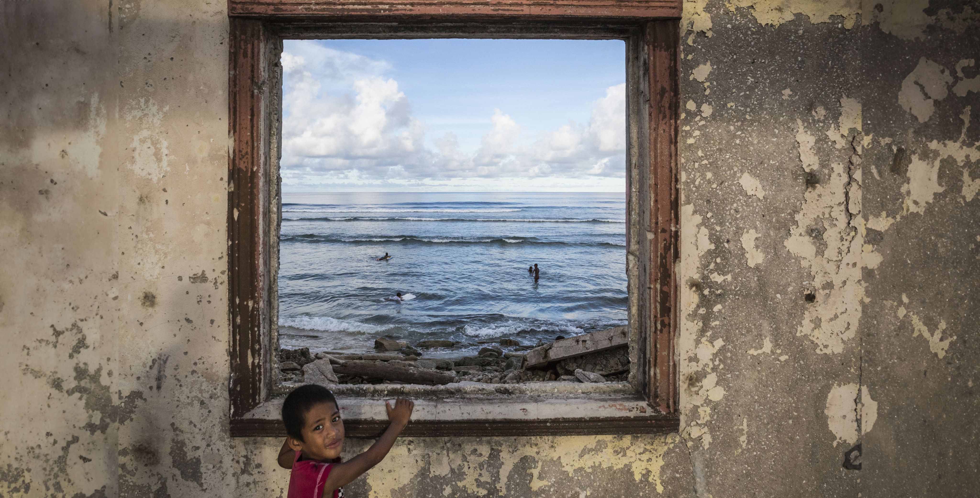
[[283, 192], [623, 192], [620, 40], [286, 40]]

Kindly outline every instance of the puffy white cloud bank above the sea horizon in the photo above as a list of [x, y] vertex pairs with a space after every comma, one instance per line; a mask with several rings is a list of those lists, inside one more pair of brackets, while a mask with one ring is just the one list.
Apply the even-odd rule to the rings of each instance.
[[[282, 55], [281, 161], [289, 190], [622, 189], [624, 84], [592, 103], [588, 123], [569, 121], [537, 137], [495, 110], [479, 149], [469, 155], [453, 133], [426, 147], [425, 126], [398, 82], [384, 76], [386, 63], [312, 41], [292, 42], [289, 50]], [[529, 182], [536, 188], [527, 189]]]

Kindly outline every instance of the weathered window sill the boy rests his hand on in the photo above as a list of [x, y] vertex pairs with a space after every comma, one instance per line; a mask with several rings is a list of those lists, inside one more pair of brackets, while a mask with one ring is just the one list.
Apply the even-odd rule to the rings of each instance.
[[[650, 407], [627, 383], [492, 385], [337, 385], [333, 388], [350, 437], [374, 437], [388, 426], [384, 399], [416, 402], [407, 436], [529, 436], [666, 433], [676, 415]], [[231, 435], [285, 436], [282, 399], [232, 418]]]

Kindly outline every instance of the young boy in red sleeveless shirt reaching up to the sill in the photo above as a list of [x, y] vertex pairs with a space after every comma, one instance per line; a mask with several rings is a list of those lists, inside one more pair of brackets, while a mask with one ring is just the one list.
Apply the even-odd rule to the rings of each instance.
[[412, 418], [408, 398], [384, 402], [391, 424], [368, 451], [340, 462], [344, 421], [333, 393], [322, 385], [301, 385], [282, 403], [286, 441], [279, 450], [279, 467], [290, 469], [287, 498], [343, 498], [343, 486], [384, 460], [395, 439]]

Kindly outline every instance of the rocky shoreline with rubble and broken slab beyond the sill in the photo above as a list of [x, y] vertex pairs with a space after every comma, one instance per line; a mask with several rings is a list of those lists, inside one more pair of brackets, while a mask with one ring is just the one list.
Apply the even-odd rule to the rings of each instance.
[[[616, 327], [533, 346], [512, 339], [479, 344], [421, 340], [409, 345], [393, 338], [378, 338], [374, 341], [376, 352], [371, 353], [311, 353], [307, 347], [280, 349], [279, 381], [284, 386], [621, 382], [629, 375], [627, 336], [626, 327]], [[475, 356], [425, 358], [425, 352], [475, 345], [482, 345]]]

